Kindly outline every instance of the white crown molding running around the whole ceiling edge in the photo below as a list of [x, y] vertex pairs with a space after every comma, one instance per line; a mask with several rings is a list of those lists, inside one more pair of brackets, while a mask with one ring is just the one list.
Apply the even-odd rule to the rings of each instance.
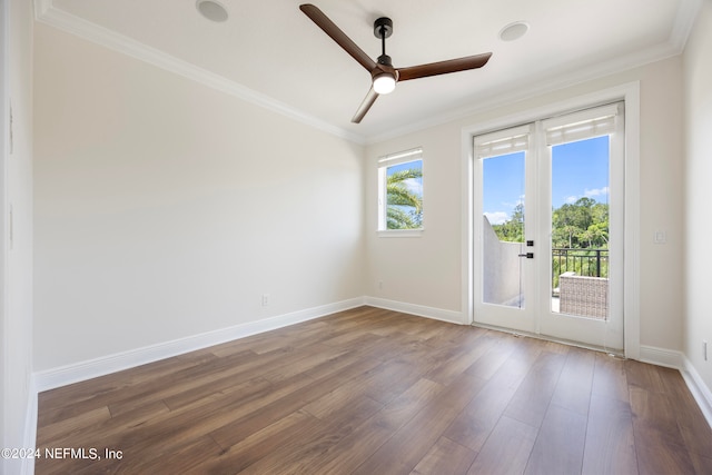
[[191, 79], [196, 82], [202, 83], [204, 86], [237, 97], [253, 105], [289, 117], [327, 133], [359, 145], [373, 145], [431, 127], [441, 126], [454, 120], [461, 120], [467, 116], [476, 115], [488, 109], [518, 102], [584, 81], [623, 72], [625, 70], [681, 55], [684, 51], [690, 32], [694, 27], [694, 20], [702, 1], [703, 0], [682, 0], [668, 41], [659, 46], [633, 55], [627, 55], [622, 58], [616, 58], [611, 61], [592, 65], [586, 68], [576, 68], [572, 71], [558, 75], [554, 80], [551, 78], [543, 78], [540, 81], [532, 81], [530, 78], [525, 81], [510, 83], [498, 91], [488, 91], [486, 97], [472, 98], [472, 100], [468, 101], [469, 105], [466, 107], [451, 110], [446, 113], [433, 115], [426, 120], [411, 122], [404, 127], [398, 127], [384, 133], [370, 136], [354, 133], [349, 130], [336, 127], [327, 121], [309, 116], [296, 108], [249, 89], [222, 76], [198, 68], [195, 65], [175, 58], [164, 51], [150, 48], [139, 41], [116, 33], [82, 18], [69, 14], [55, 8], [52, 0], [34, 0], [34, 16], [38, 21], [52, 26], [57, 29], [67, 31], [88, 41], [101, 44], [106, 48], [128, 55], [158, 68]]

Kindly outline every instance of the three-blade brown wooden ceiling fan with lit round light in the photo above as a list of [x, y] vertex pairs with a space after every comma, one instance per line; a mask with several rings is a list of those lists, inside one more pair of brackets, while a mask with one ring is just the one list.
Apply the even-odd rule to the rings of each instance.
[[374, 61], [358, 46], [346, 36], [326, 14], [315, 6], [305, 3], [299, 6], [312, 21], [328, 34], [338, 46], [349, 53], [370, 73], [373, 83], [352, 122], [358, 123], [364, 118], [370, 106], [379, 95], [392, 92], [396, 82], [409, 79], [427, 78], [429, 76], [446, 75], [448, 72], [466, 71], [482, 68], [487, 63], [491, 52], [449, 59], [446, 61], [431, 62], [427, 65], [411, 66], [408, 68], [394, 68], [390, 57], [386, 55], [386, 38], [393, 34], [393, 21], [389, 18], [379, 18], [374, 22], [374, 36], [380, 39], [382, 55]]

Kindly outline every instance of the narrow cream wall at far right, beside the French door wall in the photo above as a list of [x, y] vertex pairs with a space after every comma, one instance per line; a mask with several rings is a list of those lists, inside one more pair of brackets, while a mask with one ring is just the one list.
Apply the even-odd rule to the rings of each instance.
[[[685, 89], [685, 343], [684, 353], [712, 392], [712, 2], [703, 1], [684, 53]], [[709, 356], [702, 356], [702, 340]], [[709, 396], [708, 396], [709, 397]], [[712, 404], [712, 400], [710, 400]]]

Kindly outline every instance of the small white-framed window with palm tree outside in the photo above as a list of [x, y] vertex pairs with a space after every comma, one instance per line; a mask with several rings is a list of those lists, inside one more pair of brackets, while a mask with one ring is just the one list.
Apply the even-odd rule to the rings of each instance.
[[423, 150], [378, 159], [378, 230], [423, 229]]

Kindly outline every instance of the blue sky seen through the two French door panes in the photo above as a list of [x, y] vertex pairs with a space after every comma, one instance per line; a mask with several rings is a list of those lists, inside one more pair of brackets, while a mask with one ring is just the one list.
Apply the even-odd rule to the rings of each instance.
[[[524, 196], [524, 152], [484, 161], [483, 207], [490, 222], [504, 222]], [[609, 137], [554, 147], [552, 157], [552, 206], [558, 208], [578, 198], [609, 200]]]

